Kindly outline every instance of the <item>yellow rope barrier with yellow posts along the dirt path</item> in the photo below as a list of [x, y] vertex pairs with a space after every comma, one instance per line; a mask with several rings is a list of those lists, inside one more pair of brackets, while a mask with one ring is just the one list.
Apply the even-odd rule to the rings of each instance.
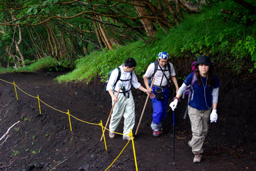
[[[5, 80], [2, 80], [2, 79], [0, 79], [0, 80], [1, 80], [1, 81], [4, 81], [4, 82], [6, 82], [6, 83], [9, 83], [9, 84], [13, 84], [13, 85], [14, 85], [14, 89], [15, 89], [15, 92], [16, 92], [16, 98], [17, 98], [17, 100], [18, 100], [18, 95], [17, 95], [16, 87], [17, 87], [21, 92], [23, 92], [24, 94], [26, 94], [26, 95], [28, 95], [28, 96], [30, 96], [30, 97], [32, 97], [32, 98], [38, 99], [38, 103], [39, 103], [39, 112], [40, 112], [40, 114], [41, 114], [40, 102], [44, 103], [46, 106], [48, 106], [48, 107], [50, 107], [50, 108], [52, 108], [52, 109], [54, 109], [54, 110], [56, 110], [56, 111], [62, 112], [62, 113], [64, 113], [64, 114], [67, 114], [67, 115], [68, 115], [68, 120], [69, 120], [69, 122], [70, 122], [70, 131], [72, 131], [70, 116], [71, 116], [72, 118], [77, 119], [78, 121], [81, 121], [81, 122], [84, 122], [84, 123], [88, 123], [88, 124], [91, 124], [91, 125], [98, 125], [98, 126], [101, 126], [102, 133], [103, 133], [103, 137], [104, 137], [105, 149], [107, 150], [104, 130], [108, 130], [108, 131], [110, 131], [110, 130], [103, 126], [102, 121], [101, 121], [101, 123], [98, 123], [98, 124], [97, 124], [97, 123], [90, 123], [90, 122], [82, 121], [81, 119], [78, 119], [78, 118], [76, 118], [75, 116], [71, 115], [70, 112], [69, 112], [69, 110], [67, 110], [67, 112], [64, 112], [64, 111], [60, 111], [60, 110], [58, 110], [58, 109], [56, 109], [56, 108], [54, 108], [54, 107], [52, 107], [52, 106], [49, 106], [49, 104], [47, 104], [47, 103], [43, 102], [43, 100], [39, 99], [39, 95], [37, 95], [37, 96], [32, 96], [32, 95], [26, 93], [25, 91], [21, 90], [21, 88], [18, 87], [18, 86], [14, 83], [14, 81], [13, 81], [13, 83], [10, 83], [9, 81], [5, 81]], [[121, 150], [119, 156], [123, 153], [125, 147], [127, 147], [128, 143], [129, 143], [129, 142], [131, 141], [131, 139], [132, 139], [133, 155], [134, 155], [134, 158], [135, 158], [135, 166], [136, 166], [136, 170], [137, 170], [137, 161], [136, 161], [135, 146], [134, 146], [134, 142], [133, 142], [132, 130], [131, 130], [131, 133], [129, 133], [129, 134], [121, 134], [121, 133], [117, 133], [117, 132], [114, 132], [114, 131], [112, 131], [112, 132], [115, 133], [115, 134], [119, 134], [119, 135], [128, 135], [128, 136], [130, 137], [129, 141], [128, 141], [127, 144], [124, 146], [123, 150]], [[112, 162], [112, 164], [111, 164], [110, 166], [113, 165], [113, 163], [117, 160], [117, 158], [119, 158], [119, 156], [117, 156], [117, 157], [114, 159], [114, 161]], [[108, 170], [108, 169], [110, 168], [110, 166], [109, 166], [106, 170]]]

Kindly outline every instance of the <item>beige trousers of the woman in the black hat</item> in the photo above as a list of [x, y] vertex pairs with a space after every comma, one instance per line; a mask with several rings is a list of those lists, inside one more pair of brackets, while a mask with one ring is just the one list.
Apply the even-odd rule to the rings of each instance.
[[197, 110], [191, 106], [188, 106], [188, 114], [191, 122], [192, 139], [190, 141], [192, 145], [192, 152], [203, 152], [202, 146], [204, 145], [204, 139], [208, 133], [208, 122], [212, 108], [208, 110]]

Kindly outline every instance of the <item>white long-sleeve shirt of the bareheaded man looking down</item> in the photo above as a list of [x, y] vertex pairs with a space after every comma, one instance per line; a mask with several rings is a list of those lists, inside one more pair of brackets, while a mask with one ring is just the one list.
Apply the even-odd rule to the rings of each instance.
[[[117, 81], [117, 83], [116, 83], [116, 80], [117, 80], [117, 76], [119, 75], [119, 71], [117, 68], [112, 71], [109, 77], [108, 85], [106, 85], [106, 91], [113, 90], [113, 88], [114, 88], [114, 91], [118, 91], [120, 85], [122, 84], [125, 87], [125, 91], [128, 91], [131, 89], [131, 83], [133, 87], [136, 89], [140, 87], [141, 84], [137, 81], [137, 77], [134, 71], [124, 72], [123, 66], [124, 64], [119, 66], [119, 68], [121, 69], [121, 76], [120, 76], [120, 80]], [[131, 79], [131, 74], [132, 74], [132, 80], [130, 81], [129, 79]], [[121, 81], [121, 80], [129, 80], [129, 81]], [[116, 87], [114, 87], [114, 83], [116, 83]], [[120, 92], [123, 92], [123, 91], [120, 90]]]

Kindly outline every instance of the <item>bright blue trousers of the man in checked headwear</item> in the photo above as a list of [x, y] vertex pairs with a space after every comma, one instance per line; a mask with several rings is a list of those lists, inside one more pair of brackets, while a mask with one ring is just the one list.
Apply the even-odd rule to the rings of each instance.
[[[158, 87], [152, 87], [152, 92], [155, 94], [155, 89], [158, 89]], [[156, 100], [155, 98], [152, 99], [153, 104], [153, 122], [158, 125], [159, 123], [163, 122], [163, 119], [165, 119], [166, 116], [166, 108], [168, 105], [168, 96], [169, 96], [169, 88], [166, 86], [166, 88], [163, 88], [163, 99], [162, 100]]]

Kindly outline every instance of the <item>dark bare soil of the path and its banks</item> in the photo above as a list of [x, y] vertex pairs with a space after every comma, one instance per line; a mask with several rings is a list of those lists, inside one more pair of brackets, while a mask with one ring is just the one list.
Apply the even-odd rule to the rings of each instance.
[[[177, 64], [178, 65], [178, 64]], [[177, 73], [181, 70], [178, 69]], [[188, 72], [187, 72], [188, 73]], [[0, 79], [13, 82], [23, 91], [37, 96], [50, 106], [90, 123], [105, 126], [111, 102], [103, 92], [103, 83], [58, 84], [53, 79], [63, 73], [7, 73]], [[218, 73], [217, 73], [218, 74]], [[234, 77], [219, 70], [221, 91], [219, 119], [210, 123], [200, 164], [193, 164], [193, 154], [187, 145], [192, 137], [189, 119], [182, 119], [186, 100], [175, 111], [175, 165], [173, 165], [172, 114], [165, 121], [165, 133], [152, 136], [151, 101], [148, 102], [142, 126], [135, 138], [138, 170], [256, 170], [255, 166], [255, 76], [233, 81]], [[242, 76], [241, 76], [242, 77]], [[139, 79], [142, 83], [142, 79]], [[179, 82], [181, 85], [182, 82]], [[17, 121], [7, 139], [0, 141], [0, 170], [105, 170], [126, 145], [121, 135], [100, 141], [100, 126], [83, 123], [55, 111], [43, 103], [39, 114], [38, 100], [0, 80], [0, 137]], [[136, 125], [146, 94], [133, 90], [136, 104]], [[173, 97], [171, 91], [170, 97]], [[170, 99], [171, 99], [170, 98]], [[123, 132], [123, 121], [117, 130]], [[5, 142], [3, 142], [5, 141]], [[136, 170], [132, 142], [109, 170]]]

